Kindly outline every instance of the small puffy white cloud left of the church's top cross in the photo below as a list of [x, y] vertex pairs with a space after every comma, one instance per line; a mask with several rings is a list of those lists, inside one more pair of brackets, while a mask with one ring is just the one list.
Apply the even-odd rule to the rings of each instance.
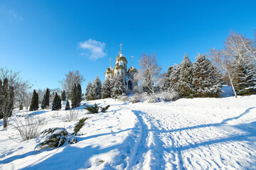
[[104, 57], [107, 55], [105, 51], [105, 42], [99, 42], [97, 40], [85, 40], [84, 42], [79, 43], [82, 49], [87, 50], [81, 55], [88, 55], [92, 60], [97, 60], [98, 58]]

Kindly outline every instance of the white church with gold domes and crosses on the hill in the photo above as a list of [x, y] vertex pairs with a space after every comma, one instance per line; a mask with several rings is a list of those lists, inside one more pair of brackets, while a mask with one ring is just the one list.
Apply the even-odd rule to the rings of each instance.
[[[133, 58], [133, 56], [132, 56]], [[117, 77], [118, 75], [122, 75], [124, 87], [126, 87], [127, 91], [133, 91], [134, 86], [137, 86], [137, 81], [134, 80], [134, 74], [136, 74], [138, 71], [133, 66], [129, 67], [127, 70], [127, 59], [122, 54], [122, 44], [120, 45], [120, 52], [115, 60], [114, 69], [111, 67], [111, 58], [110, 58], [110, 67], [107, 68], [105, 72], [105, 79], [113, 79], [113, 77]]]

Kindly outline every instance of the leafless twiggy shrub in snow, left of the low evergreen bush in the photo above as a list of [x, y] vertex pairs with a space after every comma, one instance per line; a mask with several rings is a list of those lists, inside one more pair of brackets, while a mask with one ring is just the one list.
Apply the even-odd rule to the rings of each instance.
[[21, 140], [31, 140], [39, 135], [41, 128], [46, 124], [46, 118], [38, 115], [25, 116], [25, 120], [22, 118], [14, 118], [14, 128], [18, 130], [21, 135]]

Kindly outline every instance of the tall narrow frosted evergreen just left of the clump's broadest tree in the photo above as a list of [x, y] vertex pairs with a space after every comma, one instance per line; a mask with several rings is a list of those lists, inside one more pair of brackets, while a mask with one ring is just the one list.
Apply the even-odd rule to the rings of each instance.
[[181, 62], [181, 73], [178, 76], [178, 94], [181, 97], [193, 98], [193, 64], [188, 56]]

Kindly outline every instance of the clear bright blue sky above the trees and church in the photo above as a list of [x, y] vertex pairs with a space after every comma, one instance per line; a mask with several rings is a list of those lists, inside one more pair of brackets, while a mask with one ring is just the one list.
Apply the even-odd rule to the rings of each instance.
[[86, 81], [123, 54], [134, 66], [155, 53], [163, 71], [223, 47], [230, 30], [254, 37], [256, 1], [12, 1], [0, 0], [0, 67], [21, 71], [34, 89], [61, 87], [78, 69]]

